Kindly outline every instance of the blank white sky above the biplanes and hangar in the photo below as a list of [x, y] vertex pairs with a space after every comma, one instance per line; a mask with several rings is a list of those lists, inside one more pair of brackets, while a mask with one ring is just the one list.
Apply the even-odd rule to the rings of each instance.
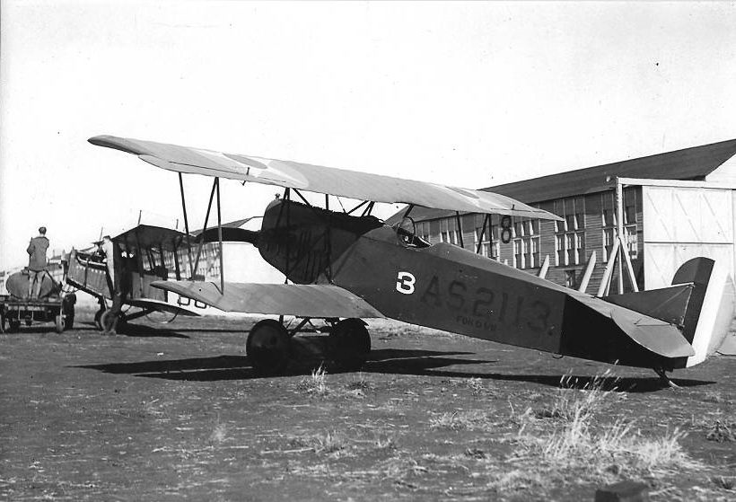
[[[2, 0], [0, 269], [174, 173], [111, 134], [481, 188], [736, 137], [736, 4]], [[185, 177], [192, 227], [209, 183]], [[223, 181], [223, 219], [275, 187]], [[383, 216], [388, 216], [387, 214]], [[149, 217], [148, 221], [152, 221]]]

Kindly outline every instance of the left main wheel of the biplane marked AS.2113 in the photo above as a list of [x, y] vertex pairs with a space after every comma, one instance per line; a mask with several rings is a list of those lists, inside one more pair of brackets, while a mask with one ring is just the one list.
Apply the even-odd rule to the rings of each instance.
[[291, 340], [281, 322], [259, 321], [248, 334], [245, 352], [258, 374], [279, 374], [289, 364]]

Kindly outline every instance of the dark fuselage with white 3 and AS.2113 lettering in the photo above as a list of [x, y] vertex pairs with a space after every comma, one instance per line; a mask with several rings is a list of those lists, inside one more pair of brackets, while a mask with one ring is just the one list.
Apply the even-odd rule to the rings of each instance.
[[341, 286], [399, 321], [609, 363], [671, 365], [577, 302], [583, 294], [449, 243], [407, 243], [372, 216], [275, 201], [258, 250], [295, 283]]

